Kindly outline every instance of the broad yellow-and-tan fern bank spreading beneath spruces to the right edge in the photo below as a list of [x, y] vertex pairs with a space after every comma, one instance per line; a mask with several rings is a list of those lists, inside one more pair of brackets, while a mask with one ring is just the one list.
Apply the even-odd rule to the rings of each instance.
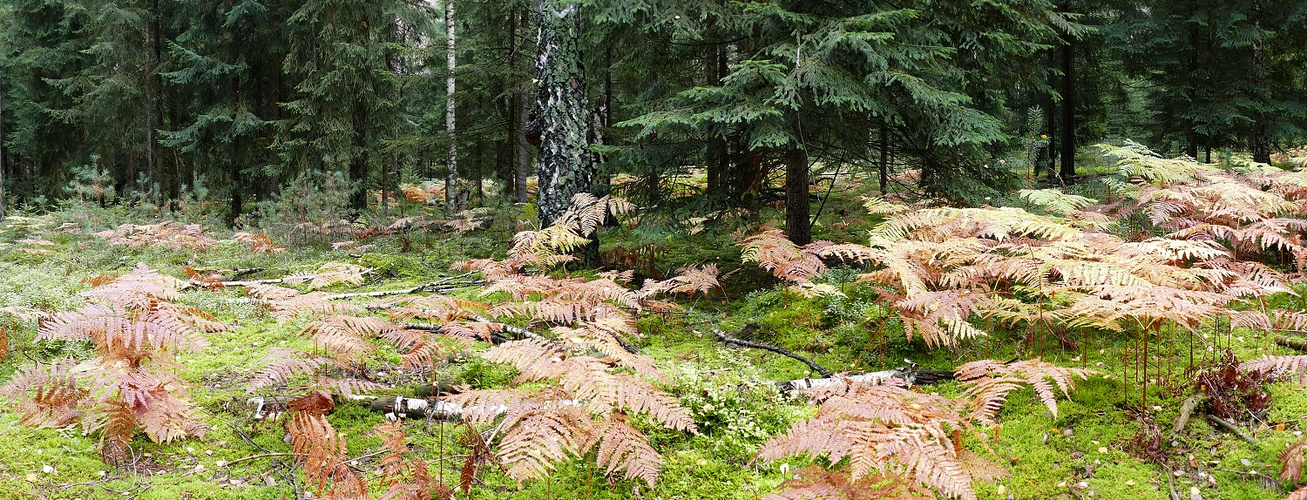
[[860, 282], [897, 309], [908, 337], [949, 346], [988, 334], [976, 326], [978, 319], [1027, 329], [1155, 330], [1162, 322], [1196, 329], [1218, 315], [1238, 325], [1297, 324], [1291, 312], [1229, 307], [1289, 290], [1281, 273], [1235, 258], [1239, 242], [1298, 252], [1291, 232], [1300, 225], [1286, 221], [1298, 219], [1263, 221], [1269, 232], [1257, 235], [1243, 228], [1242, 236], [1217, 231], [1210, 238], [1127, 242], [1098, 231], [1087, 215], [1063, 221], [1014, 208], [940, 208], [890, 217], [867, 245], [816, 242], [800, 248], [766, 230], [746, 239], [742, 249], [745, 260], [797, 283], [816, 278], [826, 261], [869, 268]]

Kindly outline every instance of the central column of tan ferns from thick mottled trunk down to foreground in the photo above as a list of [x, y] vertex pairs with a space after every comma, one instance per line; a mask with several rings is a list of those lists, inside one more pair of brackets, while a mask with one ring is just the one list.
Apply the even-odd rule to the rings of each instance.
[[[541, 256], [575, 248], [575, 236], [593, 231], [606, 213], [627, 209], [606, 198], [583, 201], [583, 210], [565, 215], [554, 227], [520, 234], [507, 260], [457, 265], [482, 272], [488, 282], [482, 295], [503, 292], [510, 300], [473, 312], [448, 299], [426, 304], [443, 315], [435, 319], [454, 320], [446, 329], [469, 317], [480, 324], [525, 320], [528, 326], [548, 326], [549, 337], [531, 333], [481, 352], [518, 368], [516, 384], [536, 383], [525, 385], [532, 389], [472, 390], [447, 399], [471, 423], [502, 419], [495, 453], [512, 478], [541, 478], [561, 461], [592, 456], [610, 479], [652, 486], [661, 456], [637, 422], [691, 433], [698, 427], [677, 398], [656, 385], [667, 377], [654, 360], [635, 354], [626, 341], [638, 334], [633, 312], [651, 305], [657, 295], [712, 291], [719, 286], [716, 268], [682, 268], [667, 281], [646, 281], [638, 291], [623, 285], [631, 273], [597, 279], [529, 274], [528, 268], [548, 268]], [[401, 305], [396, 313], [414, 315], [409, 312], [414, 302]]]

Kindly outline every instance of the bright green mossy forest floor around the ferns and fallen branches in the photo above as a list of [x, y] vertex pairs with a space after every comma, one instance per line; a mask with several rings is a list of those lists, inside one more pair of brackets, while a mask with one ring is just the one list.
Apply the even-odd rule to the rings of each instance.
[[[857, 240], [869, 226], [848, 214], [861, 213], [859, 192], [838, 193], [817, 225], [818, 238]], [[775, 218], [770, 210], [763, 218]], [[35, 308], [46, 312], [76, 309], [91, 278], [124, 273], [137, 262], [162, 274], [186, 279], [186, 269], [263, 269], [242, 279], [280, 278], [311, 273], [325, 262], [349, 262], [370, 269], [362, 285], [340, 283], [328, 292], [400, 290], [461, 274], [451, 264], [468, 258], [503, 256], [503, 248], [525, 218], [520, 208], [498, 211], [491, 227], [465, 232], [442, 232], [430, 226], [408, 232], [376, 235], [359, 244], [370, 248], [333, 249], [333, 238], [271, 234], [285, 244], [285, 253], [254, 253], [221, 227], [204, 230], [217, 238], [212, 248], [169, 249], [159, 245], [111, 244], [97, 231], [120, 223], [153, 223], [144, 214], [124, 209], [71, 206], [31, 217], [10, 217], [0, 226], [0, 307]], [[380, 221], [380, 215], [374, 215]], [[872, 219], [867, 217], [868, 219]], [[853, 221], [851, 221], [853, 219]], [[354, 230], [369, 227], [356, 223]], [[348, 235], [346, 235], [348, 236]], [[349, 236], [353, 239], [353, 236]], [[345, 238], [340, 238], [345, 239]], [[1189, 422], [1175, 439], [1166, 435], [1188, 396], [1182, 380], [1184, 367], [1221, 356], [1229, 347], [1240, 359], [1266, 352], [1291, 354], [1270, 338], [1251, 330], [1214, 333], [1168, 333], [1151, 339], [1155, 359], [1148, 373], [1148, 402], [1141, 397], [1137, 367], [1123, 364], [1125, 352], [1138, 349], [1132, 339], [1106, 333], [1080, 333], [1059, 341], [1026, 332], [996, 333], [966, 341], [954, 349], [929, 350], [920, 338], [908, 341], [902, 325], [893, 324], [874, 296], [846, 287], [855, 273], [833, 272], [825, 283], [846, 295], [806, 298], [789, 291], [754, 264], [741, 264], [738, 248], [721, 231], [698, 235], [633, 231], [629, 227], [603, 232], [604, 248], [652, 245], [659, 256], [651, 270], [667, 272], [686, 264], [716, 264], [721, 289], [708, 296], [681, 299], [681, 308], [646, 313], [638, 321], [640, 352], [652, 356], [667, 373], [669, 392], [680, 398], [698, 424], [695, 436], [651, 431], [664, 466], [650, 490], [640, 482], [610, 483], [592, 461], [563, 462], [546, 479], [518, 482], [497, 467], [482, 471], [471, 497], [474, 499], [759, 499], [774, 493], [796, 470], [813, 463], [799, 458], [779, 462], [754, 461], [758, 446], [783, 433], [791, 424], [812, 416], [812, 406], [783, 396], [774, 383], [816, 377], [805, 366], [761, 350], [723, 346], [715, 330], [749, 336], [810, 356], [840, 372], [868, 372], [901, 367], [911, 359], [924, 368], [953, 367], [975, 359], [1035, 358], [1060, 366], [1084, 367], [1098, 375], [1078, 385], [1069, 401], [1061, 401], [1055, 419], [1030, 389], [1013, 393], [992, 431], [996, 440], [975, 446], [991, 461], [1002, 463], [1010, 475], [996, 483], [976, 483], [982, 499], [1281, 499], [1283, 486], [1278, 454], [1287, 443], [1300, 439], [1307, 419], [1307, 393], [1290, 383], [1269, 384], [1270, 410], [1251, 427], [1247, 443], [1201, 418]], [[651, 243], [652, 242], [652, 243]], [[569, 273], [569, 272], [561, 272]], [[578, 272], [571, 272], [578, 273]], [[586, 274], [586, 272], [579, 272]], [[448, 295], [485, 300], [480, 286], [469, 285]], [[243, 300], [237, 287], [188, 290], [179, 303], [214, 315], [231, 328], [208, 334], [209, 346], [179, 358], [178, 373], [190, 384], [191, 397], [201, 409], [200, 419], [210, 426], [207, 436], [170, 444], [150, 443], [139, 435], [131, 458], [122, 466], [107, 465], [94, 435], [81, 428], [29, 428], [13, 413], [0, 413], [0, 496], [41, 499], [288, 499], [308, 497], [293, 466], [290, 444], [281, 423], [255, 419], [246, 403], [251, 396], [244, 383], [261, 368], [261, 359], [277, 347], [312, 349], [299, 336], [303, 319], [278, 322], [261, 305]], [[366, 304], [369, 299], [350, 299]], [[1282, 298], [1278, 300], [1295, 300]], [[33, 362], [58, 358], [88, 359], [94, 351], [80, 342], [34, 342], [37, 321], [4, 316], [10, 351], [0, 364], [0, 380]], [[886, 326], [889, 325], [889, 326]], [[748, 326], [748, 328], [746, 328]], [[421, 376], [400, 369], [393, 349], [382, 347], [367, 360], [374, 381], [393, 385], [380, 394], [406, 393]], [[1168, 368], [1168, 369], [1167, 369]], [[1162, 369], [1158, 377], [1155, 371]], [[472, 388], [502, 388], [512, 380], [511, 368], [476, 356], [442, 368], [440, 377]], [[285, 389], [285, 388], [282, 388]], [[955, 383], [923, 386], [921, 390], [957, 396]], [[263, 390], [260, 394], [276, 394]], [[384, 422], [365, 405], [341, 403], [329, 422], [348, 440], [352, 465], [375, 474], [382, 440], [371, 432]], [[1140, 439], [1144, 422], [1162, 430], [1161, 443], [1150, 446]], [[409, 420], [409, 448], [430, 463], [430, 475], [457, 483], [468, 453], [465, 424], [440, 420]], [[1149, 458], [1162, 453], [1163, 463]], [[825, 463], [817, 460], [817, 463]], [[1183, 463], [1184, 466], [1175, 466]], [[464, 496], [459, 496], [460, 499]]]

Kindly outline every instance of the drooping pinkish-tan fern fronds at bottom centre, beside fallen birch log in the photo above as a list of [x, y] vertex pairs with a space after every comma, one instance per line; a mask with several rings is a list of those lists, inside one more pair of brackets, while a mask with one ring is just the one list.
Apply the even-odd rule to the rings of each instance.
[[[603, 346], [599, 333], [566, 332], [569, 343]], [[618, 354], [620, 347], [608, 351]], [[540, 478], [569, 456], [595, 452], [595, 461], [610, 478], [657, 480], [661, 457], [648, 437], [633, 427], [634, 415], [646, 415], [669, 430], [695, 432], [697, 426], [680, 402], [629, 368], [663, 379], [652, 360], [621, 352], [596, 358], [546, 341], [515, 341], [493, 347], [482, 356], [516, 367], [518, 383], [553, 381], [535, 390], [474, 390], [448, 397], [464, 407], [465, 418], [493, 422], [503, 414], [499, 460], [508, 475]]]

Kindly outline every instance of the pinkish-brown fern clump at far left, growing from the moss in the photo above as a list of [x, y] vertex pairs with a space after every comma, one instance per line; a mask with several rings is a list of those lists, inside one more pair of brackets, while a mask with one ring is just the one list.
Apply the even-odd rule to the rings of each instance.
[[179, 281], [137, 265], [122, 277], [95, 279], [91, 300], [78, 311], [41, 325], [38, 341], [89, 341], [97, 359], [89, 368], [73, 360], [33, 366], [4, 386], [20, 420], [42, 427], [81, 423], [99, 432], [106, 460], [127, 457], [144, 431], [156, 443], [203, 436], [207, 426], [176, 375], [175, 355], [197, 352], [205, 332], [226, 326], [203, 311], [173, 303]]

